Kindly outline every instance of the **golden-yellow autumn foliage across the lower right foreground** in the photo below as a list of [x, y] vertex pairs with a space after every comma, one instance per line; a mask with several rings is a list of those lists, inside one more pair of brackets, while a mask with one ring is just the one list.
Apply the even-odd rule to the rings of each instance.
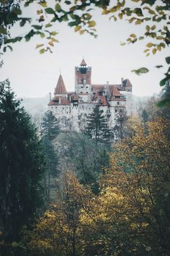
[[147, 125], [117, 144], [99, 195], [64, 176], [58, 202], [23, 230], [25, 255], [169, 255], [169, 121]]

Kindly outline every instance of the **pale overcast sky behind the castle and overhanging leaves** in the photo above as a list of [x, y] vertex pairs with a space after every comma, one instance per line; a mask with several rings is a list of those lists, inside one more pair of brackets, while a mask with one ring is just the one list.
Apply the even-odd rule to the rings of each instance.
[[[31, 9], [31, 13], [36, 8]], [[28, 11], [27, 11], [28, 12]], [[45, 97], [54, 88], [61, 74], [68, 91], [74, 90], [74, 68], [79, 66], [84, 57], [86, 64], [91, 66], [91, 82], [94, 84], [119, 84], [121, 78], [128, 78], [133, 84], [133, 93], [138, 96], [159, 93], [159, 81], [164, 78], [166, 69], [156, 69], [156, 65], [165, 64], [168, 49], [158, 52], [155, 56], [146, 57], [143, 53], [149, 40], [128, 46], [120, 46], [128, 35], [143, 33], [142, 25], [132, 25], [125, 21], [114, 22], [99, 11], [94, 12], [97, 22], [98, 37], [79, 35], [65, 23], [58, 23], [54, 29], [58, 31], [59, 43], [55, 44], [53, 54], [39, 54], [35, 49], [41, 43], [39, 37], [30, 42], [15, 43], [13, 51], [4, 54], [4, 66], [0, 70], [1, 80], [9, 78], [12, 89], [20, 98]], [[20, 35], [27, 31], [15, 25], [12, 35]], [[131, 72], [132, 69], [147, 67], [150, 72], [140, 76]]]

